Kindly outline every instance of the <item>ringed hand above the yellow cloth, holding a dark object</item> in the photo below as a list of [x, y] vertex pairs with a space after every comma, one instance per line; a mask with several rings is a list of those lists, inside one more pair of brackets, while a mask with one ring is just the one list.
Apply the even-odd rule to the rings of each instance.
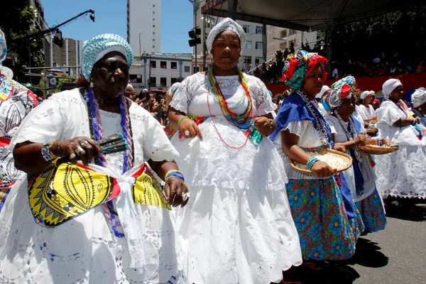
[[74, 165], [80, 158], [87, 165], [94, 155], [101, 155], [102, 149], [97, 141], [87, 137], [76, 137], [67, 140], [57, 140], [53, 143], [50, 151], [58, 157], [67, 156]]

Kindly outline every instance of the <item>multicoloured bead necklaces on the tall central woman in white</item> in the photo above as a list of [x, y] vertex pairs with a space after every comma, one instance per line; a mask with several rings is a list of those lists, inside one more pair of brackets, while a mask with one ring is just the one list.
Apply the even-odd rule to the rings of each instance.
[[243, 114], [236, 114], [234, 111], [232, 111], [229, 106], [228, 103], [226, 102], [226, 99], [224, 98], [224, 95], [222, 93], [222, 90], [220, 89], [219, 86], [219, 82], [217, 82], [216, 77], [214, 77], [212, 70], [209, 70], [208, 72], [208, 77], [209, 77], [209, 82], [210, 85], [212, 87], [212, 93], [215, 95], [214, 99], [217, 99], [217, 102], [219, 103], [219, 107], [222, 111], [222, 114], [224, 115], [224, 117], [226, 118], [226, 121], [229, 122], [229, 124], [234, 125], [236, 127], [238, 127], [239, 129], [243, 130], [244, 133], [246, 134], [246, 140], [244, 141], [242, 146], [231, 146], [228, 143], [226, 143], [224, 141], [224, 138], [222, 138], [221, 134], [219, 133], [219, 130], [216, 127], [216, 124], [214, 123], [214, 116], [212, 115], [212, 109], [210, 108], [210, 104], [209, 104], [209, 94], [210, 94], [210, 88], [208, 88], [207, 90], [207, 107], [209, 108], [209, 114], [210, 117], [212, 118], [212, 124], [214, 126], [214, 130], [216, 130], [216, 133], [219, 135], [219, 138], [221, 139], [221, 141], [228, 146], [229, 148], [233, 148], [233, 149], [241, 149], [244, 146], [246, 146], [247, 141], [249, 141], [249, 136], [251, 133], [251, 129], [254, 126], [253, 123], [253, 119], [251, 118], [251, 114], [253, 111], [253, 102], [251, 101], [251, 95], [250, 95], [250, 91], [249, 91], [249, 86], [247, 85], [246, 82], [246, 78], [244, 77], [243, 73], [241, 72], [241, 70], [238, 70], [239, 72], [239, 80], [241, 83], [241, 86], [244, 89], [244, 92], [246, 93], [246, 98], [249, 101], [249, 106], [247, 107], [246, 111], [244, 111]]

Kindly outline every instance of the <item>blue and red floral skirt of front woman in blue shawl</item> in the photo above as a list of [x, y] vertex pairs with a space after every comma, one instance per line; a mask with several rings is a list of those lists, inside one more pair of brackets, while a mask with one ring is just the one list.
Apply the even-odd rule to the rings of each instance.
[[290, 179], [286, 188], [302, 256], [316, 260], [353, 256], [357, 236], [334, 178]]

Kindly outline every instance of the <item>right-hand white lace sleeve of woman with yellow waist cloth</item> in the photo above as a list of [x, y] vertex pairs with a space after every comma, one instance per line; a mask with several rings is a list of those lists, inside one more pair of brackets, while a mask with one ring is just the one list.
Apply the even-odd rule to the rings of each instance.
[[155, 161], [175, 160], [179, 153], [165, 135], [163, 126], [145, 109], [141, 109], [141, 115], [144, 116], [145, 124], [145, 139], [142, 146], [143, 158]]

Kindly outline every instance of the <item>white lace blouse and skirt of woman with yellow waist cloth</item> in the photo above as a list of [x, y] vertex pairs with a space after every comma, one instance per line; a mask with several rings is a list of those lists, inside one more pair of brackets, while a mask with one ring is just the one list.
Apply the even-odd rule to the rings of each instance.
[[[178, 153], [158, 121], [132, 104], [135, 165], [149, 158], [173, 160]], [[121, 132], [119, 114], [101, 111], [104, 136]], [[78, 89], [55, 94], [29, 114], [11, 143], [89, 137], [86, 102]], [[121, 175], [123, 153], [107, 155], [107, 167]], [[173, 217], [167, 209], [137, 205], [146, 263], [131, 268], [126, 237], [117, 238], [98, 206], [54, 228], [35, 223], [23, 175], [0, 213], [0, 283], [176, 283]], [[116, 209], [123, 210], [116, 198]], [[119, 218], [118, 218], [119, 219]], [[134, 224], [134, 223], [133, 223]], [[124, 229], [119, 226], [119, 231]], [[170, 282], [168, 282], [170, 280]]]

